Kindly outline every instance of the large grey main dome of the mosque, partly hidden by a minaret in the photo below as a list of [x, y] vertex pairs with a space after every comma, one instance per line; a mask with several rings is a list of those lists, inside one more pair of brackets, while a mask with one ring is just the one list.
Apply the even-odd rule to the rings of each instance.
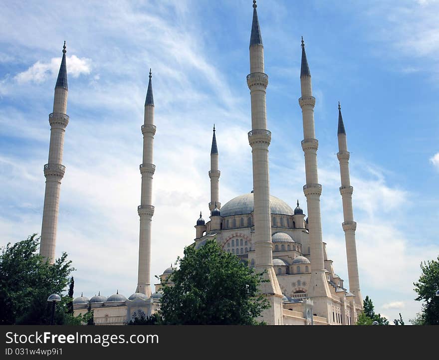
[[[221, 207], [221, 216], [250, 214], [254, 210], [253, 193], [236, 196]], [[270, 195], [272, 214], [293, 215], [293, 209], [283, 200]]]

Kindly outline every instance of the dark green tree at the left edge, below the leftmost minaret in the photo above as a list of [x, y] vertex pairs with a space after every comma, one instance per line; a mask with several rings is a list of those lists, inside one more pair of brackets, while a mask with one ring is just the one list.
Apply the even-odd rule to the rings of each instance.
[[39, 238], [33, 234], [1, 248], [0, 324], [49, 324], [52, 309], [47, 297], [53, 293], [61, 296], [55, 308], [55, 324], [82, 322], [82, 316], [74, 318], [73, 314], [66, 314], [71, 298], [62, 296], [74, 270], [71, 261], [62, 253], [49, 264], [37, 253], [38, 245]]

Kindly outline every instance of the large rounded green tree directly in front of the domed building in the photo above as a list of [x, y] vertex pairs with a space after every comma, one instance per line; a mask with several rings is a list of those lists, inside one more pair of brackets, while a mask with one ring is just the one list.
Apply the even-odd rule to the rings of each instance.
[[160, 323], [169, 325], [256, 325], [269, 307], [258, 291], [263, 274], [225, 251], [216, 240], [185, 248], [179, 269], [162, 281]]

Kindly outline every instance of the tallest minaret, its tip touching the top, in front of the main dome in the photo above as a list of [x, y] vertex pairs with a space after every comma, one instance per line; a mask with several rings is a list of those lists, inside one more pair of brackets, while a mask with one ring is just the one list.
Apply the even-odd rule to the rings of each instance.
[[268, 146], [271, 132], [267, 130], [265, 108], [265, 89], [268, 76], [264, 73], [264, 47], [253, 0], [253, 22], [250, 35], [250, 74], [247, 85], [251, 96], [251, 131], [248, 142], [251, 146], [253, 162], [254, 195], [254, 250], [257, 272], [265, 272], [265, 279], [260, 291], [266, 295], [270, 308], [263, 311], [262, 320], [268, 325], [282, 325], [282, 292], [274, 273], [272, 263], [270, 184], [268, 178]]

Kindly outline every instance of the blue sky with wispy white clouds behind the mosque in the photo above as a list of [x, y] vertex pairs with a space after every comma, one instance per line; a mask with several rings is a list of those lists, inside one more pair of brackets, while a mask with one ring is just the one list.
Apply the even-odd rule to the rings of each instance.
[[[137, 283], [143, 104], [155, 100], [152, 274], [195, 237], [210, 200], [212, 125], [220, 201], [252, 188], [248, 43], [239, 1], [1, 1], [0, 245], [40, 232], [48, 114], [67, 42], [69, 98], [57, 253], [76, 295]], [[346, 280], [337, 102], [351, 152], [363, 296], [390, 320], [420, 309], [413, 282], [439, 254], [439, 2], [259, 0], [265, 52], [271, 193], [306, 212], [300, 36], [316, 97], [323, 239]], [[19, 24], [19, 26], [17, 25]], [[152, 279], [153, 283], [156, 281]]]

